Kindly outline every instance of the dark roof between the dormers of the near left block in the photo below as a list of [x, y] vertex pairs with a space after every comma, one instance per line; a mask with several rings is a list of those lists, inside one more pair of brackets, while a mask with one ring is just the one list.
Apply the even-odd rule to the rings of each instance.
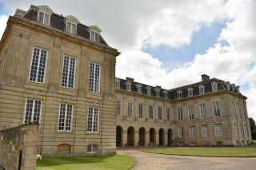
[[[37, 18], [38, 18], [38, 13], [35, 10], [35, 8], [30, 8], [30, 10], [28, 10], [26, 12], [26, 14], [23, 16], [23, 18], [29, 19], [33, 22], [38, 22]], [[66, 26], [65, 26], [65, 17], [63, 17], [62, 15], [58, 15], [58, 14], [51, 14], [50, 15], [50, 26], [54, 27], [57, 30], [62, 30], [65, 32]], [[77, 35], [79, 37], [85, 38], [87, 40], [90, 40], [90, 32], [89, 32], [89, 26], [85, 26], [81, 23], [78, 23], [77, 25]], [[102, 45], [107, 45], [107, 43], [104, 41], [104, 39], [102, 38], [102, 36], [99, 34], [99, 43]]]

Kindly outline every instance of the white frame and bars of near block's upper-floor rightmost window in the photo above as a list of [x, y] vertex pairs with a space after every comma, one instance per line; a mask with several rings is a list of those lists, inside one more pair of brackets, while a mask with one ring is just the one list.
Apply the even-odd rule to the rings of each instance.
[[[93, 79], [93, 88], [92, 88], [92, 91], [90, 89], [90, 65], [94, 65], [94, 79]], [[99, 75], [98, 75], [98, 89], [95, 89], [95, 84], [97, 83], [96, 82], [96, 65], [98, 65], [99, 67]], [[102, 74], [102, 65], [98, 64], [98, 63], [95, 63], [95, 62], [90, 62], [89, 64], [89, 92], [90, 93], [101, 93], [101, 74]]]

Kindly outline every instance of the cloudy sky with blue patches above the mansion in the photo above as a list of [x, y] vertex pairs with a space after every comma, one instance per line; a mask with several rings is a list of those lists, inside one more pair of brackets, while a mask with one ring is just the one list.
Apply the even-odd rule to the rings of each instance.
[[256, 119], [256, 1], [0, 0], [0, 37], [8, 16], [31, 4], [99, 26], [122, 52], [117, 77], [172, 89], [205, 73], [240, 85]]

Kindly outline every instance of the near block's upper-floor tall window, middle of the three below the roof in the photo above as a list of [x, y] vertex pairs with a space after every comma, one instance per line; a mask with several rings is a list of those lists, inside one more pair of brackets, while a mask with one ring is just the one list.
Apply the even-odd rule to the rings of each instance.
[[75, 58], [64, 57], [62, 69], [62, 87], [74, 89]]

